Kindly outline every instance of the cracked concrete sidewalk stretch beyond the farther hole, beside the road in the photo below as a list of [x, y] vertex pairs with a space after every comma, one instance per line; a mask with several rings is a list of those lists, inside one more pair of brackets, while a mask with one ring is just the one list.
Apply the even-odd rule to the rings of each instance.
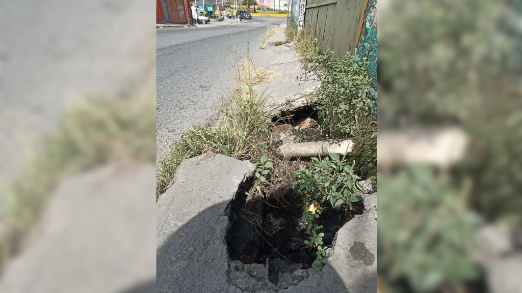
[[281, 75], [272, 82], [256, 84], [253, 90], [257, 93], [269, 95], [267, 111], [270, 115], [278, 115], [281, 111], [294, 111], [297, 108], [309, 105], [307, 95], [321, 85], [319, 81], [301, 81], [304, 70], [299, 62], [301, 55], [295, 51], [295, 42], [276, 46], [274, 42], [284, 41], [284, 29], [287, 25], [279, 26], [266, 45], [253, 56], [253, 61], [265, 69], [279, 72]]

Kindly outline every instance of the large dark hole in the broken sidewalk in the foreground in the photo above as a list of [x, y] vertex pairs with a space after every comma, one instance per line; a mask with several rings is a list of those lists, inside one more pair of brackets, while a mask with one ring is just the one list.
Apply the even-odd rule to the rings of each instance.
[[[281, 202], [291, 207], [281, 206]], [[305, 234], [302, 205], [302, 199], [292, 192], [278, 200], [236, 194], [230, 205], [231, 225], [226, 237], [230, 259], [243, 264], [268, 264], [268, 279], [277, 287], [298, 285], [312, 274], [303, 270], [318, 272], [312, 266], [317, 250], [304, 245], [309, 236]], [[318, 233], [325, 234], [324, 245], [331, 247], [339, 228], [352, 217], [349, 211], [324, 211], [314, 222], [323, 225]]]

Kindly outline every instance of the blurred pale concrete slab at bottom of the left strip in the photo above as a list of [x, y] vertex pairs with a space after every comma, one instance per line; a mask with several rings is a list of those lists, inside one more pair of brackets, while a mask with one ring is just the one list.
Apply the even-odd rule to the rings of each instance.
[[114, 162], [64, 179], [0, 292], [152, 292], [154, 164]]

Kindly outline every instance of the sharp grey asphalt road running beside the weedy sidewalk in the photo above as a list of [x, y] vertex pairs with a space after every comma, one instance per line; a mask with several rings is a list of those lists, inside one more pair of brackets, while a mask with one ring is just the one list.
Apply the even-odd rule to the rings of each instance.
[[165, 142], [179, 141], [187, 126], [206, 124], [217, 113], [233, 89], [234, 65], [247, 55], [247, 32], [252, 57], [260, 50], [259, 38], [268, 22], [286, 21], [286, 17], [254, 17], [241, 25], [156, 29], [158, 159], [164, 155]]

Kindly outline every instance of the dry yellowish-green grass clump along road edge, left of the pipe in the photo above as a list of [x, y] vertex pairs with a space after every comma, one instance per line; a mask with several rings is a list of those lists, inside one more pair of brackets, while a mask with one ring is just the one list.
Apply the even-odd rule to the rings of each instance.
[[270, 117], [264, 112], [266, 97], [244, 87], [236, 90], [230, 105], [221, 108], [223, 118], [219, 126], [188, 128], [158, 162], [156, 197], [172, 184], [175, 170], [186, 158], [212, 151], [240, 160], [260, 161], [270, 143]]

